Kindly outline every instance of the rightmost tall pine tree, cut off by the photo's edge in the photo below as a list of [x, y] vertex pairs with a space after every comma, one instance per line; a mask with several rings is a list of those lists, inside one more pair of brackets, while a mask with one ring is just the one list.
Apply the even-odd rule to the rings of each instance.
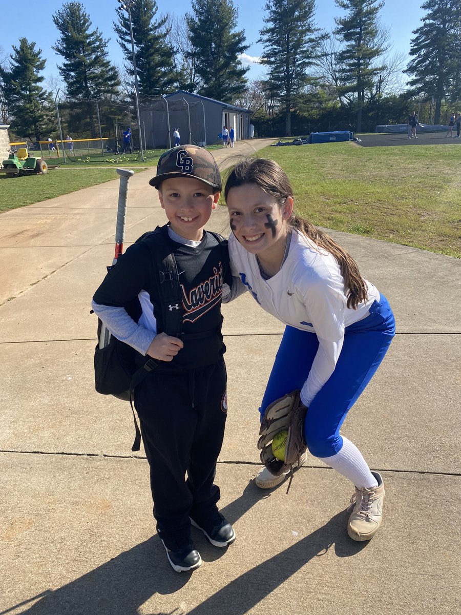
[[427, 10], [423, 25], [413, 31], [410, 54], [413, 59], [404, 73], [414, 75], [409, 81], [414, 94], [435, 94], [434, 124], [440, 122], [443, 99], [459, 89], [460, 39], [457, 35], [459, 2], [428, 0], [421, 6]]

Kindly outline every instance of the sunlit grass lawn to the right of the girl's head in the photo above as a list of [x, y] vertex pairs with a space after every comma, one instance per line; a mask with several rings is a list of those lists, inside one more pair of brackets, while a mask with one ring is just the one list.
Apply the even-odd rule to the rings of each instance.
[[317, 226], [461, 258], [461, 147], [268, 147]]

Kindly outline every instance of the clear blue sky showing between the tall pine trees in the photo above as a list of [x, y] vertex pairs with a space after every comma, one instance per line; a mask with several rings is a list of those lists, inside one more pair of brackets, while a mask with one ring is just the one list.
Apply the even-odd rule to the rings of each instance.
[[[112, 63], [122, 66], [123, 58], [112, 22], [116, 20], [116, 0], [81, 0], [85, 10], [90, 15], [93, 27], [98, 27], [104, 38], [111, 38], [108, 45], [109, 57]], [[424, 11], [420, 9], [423, 0], [385, 0], [381, 10], [381, 21], [384, 26], [390, 27], [393, 42], [393, 52], [408, 54], [412, 30], [420, 25], [420, 18]], [[248, 64], [251, 66], [247, 76], [258, 79], [264, 76], [264, 69], [251, 58], [258, 58], [262, 54], [262, 45], [258, 44], [259, 30], [264, 26], [264, 0], [234, 1], [238, 8], [238, 30], [245, 30], [246, 42], [250, 45], [246, 51]], [[28, 41], [36, 42], [42, 49], [42, 57], [46, 58], [44, 76], [59, 78], [57, 64], [61, 57], [52, 50], [52, 45], [58, 37], [58, 30], [53, 23], [52, 14], [61, 8], [61, 0], [45, 0], [41, 8], [31, 0], [23, 2], [7, 1], [2, 3], [0, 22], [0, 57], [12, 52], [12, 45], [17, 45], [20, 37], [25, 36]], [[168, 0], [157, 0], [158, 15], [166, 12], [175, 15], [184, 15], [191, 12], [190, 0], [176, 0], [174, 4]], [[174, 11], [171, 7], [174, 6]], [[35, 7], [35, 8], [34, 8]], [[334, 17], [344, 14], [334, 0], [317, 0], [316, 22], [320, 28], [331, 31], [334, 28]]]

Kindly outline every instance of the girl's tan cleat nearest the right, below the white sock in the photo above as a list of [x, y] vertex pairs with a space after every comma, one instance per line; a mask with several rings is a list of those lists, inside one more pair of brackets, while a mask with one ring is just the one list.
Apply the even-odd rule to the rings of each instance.
[[352, 513], [347, 523], [347, 533], [352, 540], [369, 540], [379, 530], [382, 521], [382, 503], [384, 501], [384, 483], [379, 472], [371, 472], [378, 486], [372, 489], [357, 489], [350, 498]]

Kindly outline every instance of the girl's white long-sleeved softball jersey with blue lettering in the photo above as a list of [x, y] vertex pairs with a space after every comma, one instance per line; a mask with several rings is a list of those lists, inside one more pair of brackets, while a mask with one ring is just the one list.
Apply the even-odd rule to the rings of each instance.
[[247, 252], [233, 233], [229, 255], [232, 275], [240, 277], [261, 308], [285, 325], [317, 335], [317, 355], [301, 389], [302, 402], [309, 406], [336, 367], [345, 328], [366, 318], [372, 303], [379, 301], [377, 288], [365, 280], [368, 300], [357, 309], [347, 308], [336, 258], [296, 230], [291, 232], [282, 268], [267, 280], [261, 276], [256, 255]]

